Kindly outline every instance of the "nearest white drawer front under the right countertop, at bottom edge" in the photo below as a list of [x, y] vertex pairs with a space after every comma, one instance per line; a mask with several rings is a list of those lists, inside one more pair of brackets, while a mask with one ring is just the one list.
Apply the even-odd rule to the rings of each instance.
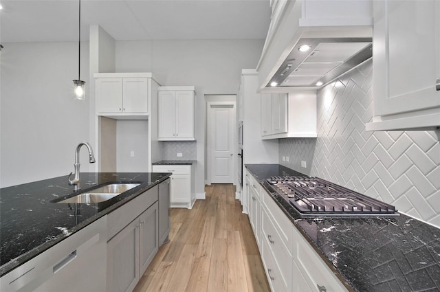
[[[327, 292], [347, 291], [333, 271], [316, 254], [305, 238], [294, 228], [296, 237], [296, 265], [310, 287], [325, 287]], [[294, 257], [295, 258], [295, 257]]]

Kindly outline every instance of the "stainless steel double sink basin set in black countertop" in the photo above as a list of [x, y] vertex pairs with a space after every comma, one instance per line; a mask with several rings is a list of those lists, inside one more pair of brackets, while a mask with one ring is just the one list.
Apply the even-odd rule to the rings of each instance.
[[140, 183], [111, 183], [98, 186], [98, 188], [87, 190], [87, 192], [82, 192], [56, 203], [101, 203], [139, 185]]

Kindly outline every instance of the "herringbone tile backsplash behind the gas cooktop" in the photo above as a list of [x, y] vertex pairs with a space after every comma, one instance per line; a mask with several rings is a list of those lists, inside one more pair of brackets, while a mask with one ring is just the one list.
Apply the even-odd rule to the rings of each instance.
[[371, 67], [369, 60], [318, 92], [318, 138], [279, 139], [280, 164], [440, 227], [440, 131], [366, 132]]

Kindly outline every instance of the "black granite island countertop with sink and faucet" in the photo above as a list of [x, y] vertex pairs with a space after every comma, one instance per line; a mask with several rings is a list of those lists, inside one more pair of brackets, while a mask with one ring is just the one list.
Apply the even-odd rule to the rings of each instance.
[[81, 172], [81, 192], [113, 181], [140, 183], [113, 199], [91, 204], [51, 202], [73, 193], [73, 187], [67, 184], [67, 175], [0, 189], [0, 276], [124, 205], [170, 175]]

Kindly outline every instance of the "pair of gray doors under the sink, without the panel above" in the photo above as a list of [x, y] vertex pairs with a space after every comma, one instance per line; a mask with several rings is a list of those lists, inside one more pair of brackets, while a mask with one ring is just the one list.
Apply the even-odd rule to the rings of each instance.
[[107, 243], [107, 291], [133, 291], [159, 249], [158, 203]]

